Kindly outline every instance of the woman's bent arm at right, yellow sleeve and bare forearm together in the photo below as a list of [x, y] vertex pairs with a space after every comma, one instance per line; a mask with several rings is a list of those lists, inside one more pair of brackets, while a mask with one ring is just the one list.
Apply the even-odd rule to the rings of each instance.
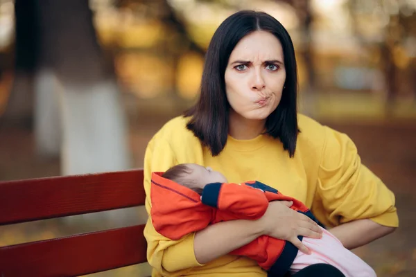
[[[360, 247], [395, 230], [399, 224], [395, 195], [361, 163], [349, 137], [325, 127], [326, 141], [318, 169], [319, 200], [325, 224], [347, 249]], [[322, 217], [322, 215], [321, 215]]]

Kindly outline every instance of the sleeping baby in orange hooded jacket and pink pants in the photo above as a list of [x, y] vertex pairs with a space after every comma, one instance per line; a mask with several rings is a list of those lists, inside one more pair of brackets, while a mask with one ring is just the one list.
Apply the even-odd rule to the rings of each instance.
[[[291, 208], [318, 220], [302, 202], [279, 193], [259, 181], [228, 183], [220, 172], [194, 163], [173, 166], [166, 172], [153, 172], [151, 215], [156, 231], [179, 240], [184, 235], [204, 229], [209, 224], [226, 220], [257, 220], [268, 208], [268, 202], [292, 201]], [[166, 202], [166, 199], [169, 199]], [[256, 260], [269, 276], [295, 274], [309, 265], [333, 265], [347, 277], [376, 276], [361, 258], [345, 249], [329, 231], [322, 238], [302, 238], [311, 254], [307, 255], [284, 240], [262, 235], [230, 254]]]

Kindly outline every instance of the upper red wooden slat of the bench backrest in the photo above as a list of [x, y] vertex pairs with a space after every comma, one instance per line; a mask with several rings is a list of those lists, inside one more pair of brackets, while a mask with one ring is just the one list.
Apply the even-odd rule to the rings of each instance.
[[0, 182], [0, 225], [144, 204], [143, 170]]

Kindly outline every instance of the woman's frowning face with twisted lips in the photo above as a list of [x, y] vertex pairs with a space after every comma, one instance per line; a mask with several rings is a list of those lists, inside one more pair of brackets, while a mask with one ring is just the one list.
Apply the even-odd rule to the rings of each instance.
[[262, 30], [243, 37], [225, 69], [230, 112], [250, 120], [265, 120], [279, 105], [285, 80], [279, 39]]

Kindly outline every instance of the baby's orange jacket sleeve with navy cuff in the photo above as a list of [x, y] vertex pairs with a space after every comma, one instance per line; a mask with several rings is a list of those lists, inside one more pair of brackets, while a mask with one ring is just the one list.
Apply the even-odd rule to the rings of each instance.
[[202, 203], [234, 213], [241, 220], [257, 220], [268, 208], [262, 190], [234, 183], [207, 184], [202, 191]]

